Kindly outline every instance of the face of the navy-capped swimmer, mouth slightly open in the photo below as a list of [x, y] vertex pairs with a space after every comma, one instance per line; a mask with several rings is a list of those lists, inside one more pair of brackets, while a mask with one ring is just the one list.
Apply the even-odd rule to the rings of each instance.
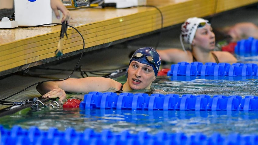
[[127, 83], [133, 90], [150, 89], [156, 79], [152, 66], [133, 60], [128, 68]]

